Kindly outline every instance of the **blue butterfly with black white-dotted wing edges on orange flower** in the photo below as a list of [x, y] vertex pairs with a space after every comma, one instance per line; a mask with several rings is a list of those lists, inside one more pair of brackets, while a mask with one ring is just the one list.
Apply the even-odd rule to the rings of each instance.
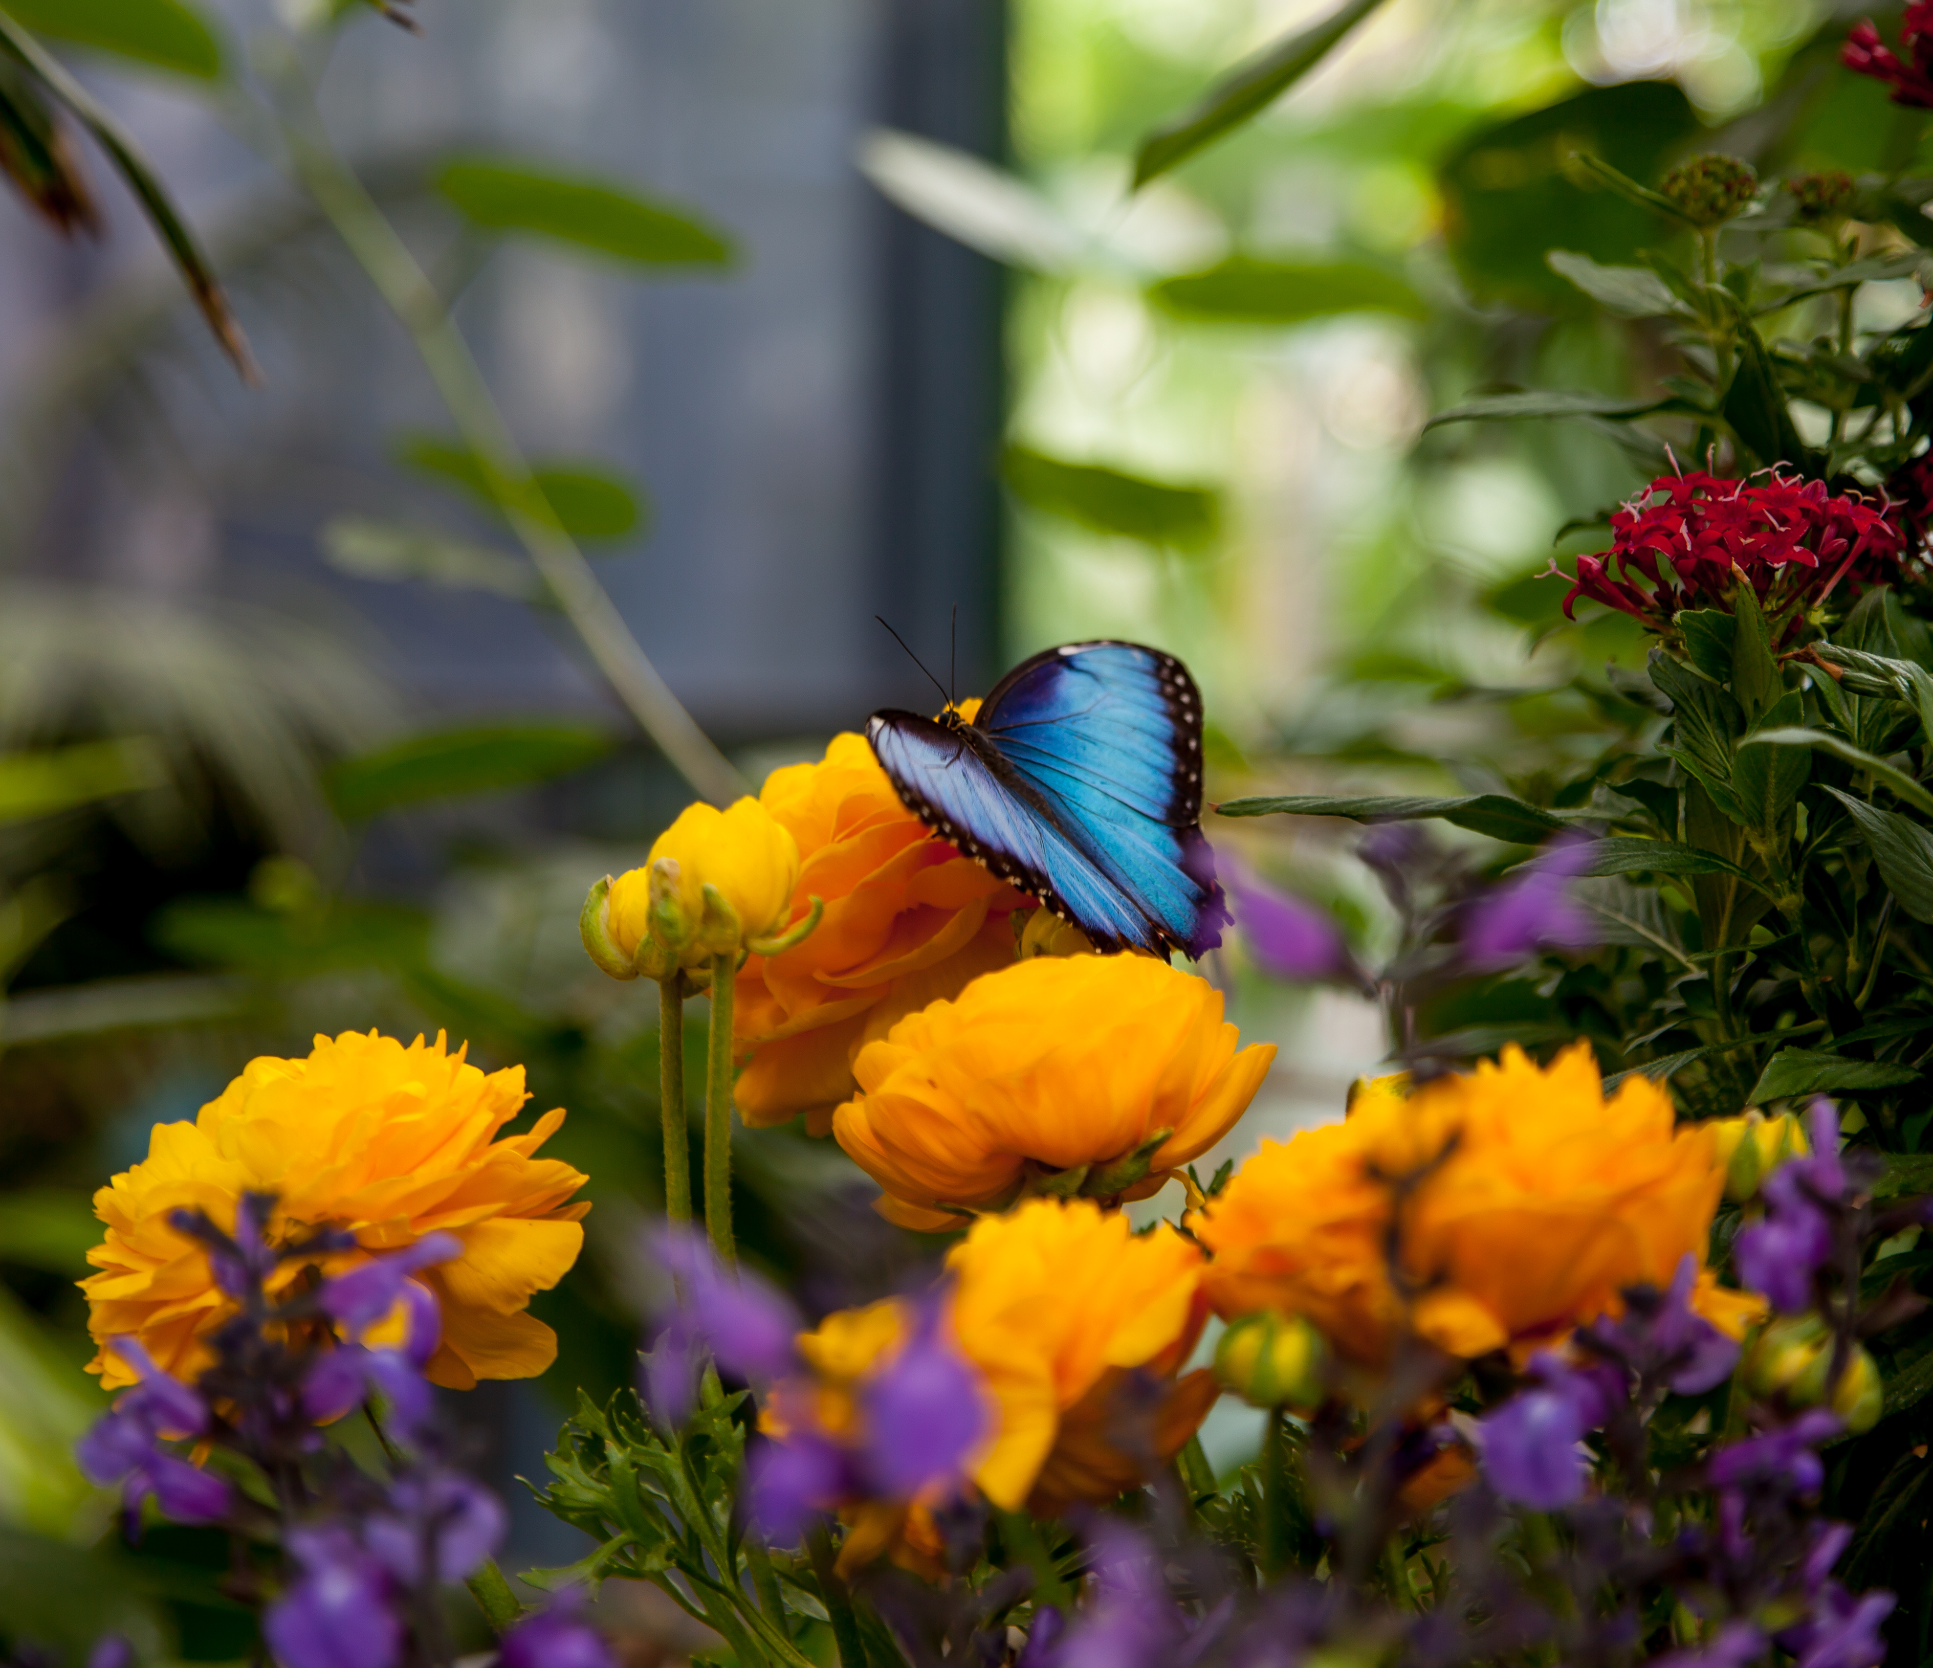
[[866, 736], [920, 821], [1102, 949], [1222, 941], [1202, 698], [1173, 655], [1063, 644], [1007, 673], [970, 723], [953, 705], [889, 709]]

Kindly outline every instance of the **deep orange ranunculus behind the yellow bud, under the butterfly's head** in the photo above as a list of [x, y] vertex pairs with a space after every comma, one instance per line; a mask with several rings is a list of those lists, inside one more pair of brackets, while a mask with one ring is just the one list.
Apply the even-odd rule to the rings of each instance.
[[[970, 717], [974, 704], [961, 702]], [[818, 930], [738, 974], [735, 1098], [748, 1125], [808, 1115], [823, 1135], [852, 1094], [852, 1055], [905, 1013], [957, 995], [1015, 959], [1011, 914], [1028, 899], [909, 812], [864, 736], [833, 736], [820, 763], [773, 771], [760, 804], [798, 843], [793, 914], [818, 897]]]

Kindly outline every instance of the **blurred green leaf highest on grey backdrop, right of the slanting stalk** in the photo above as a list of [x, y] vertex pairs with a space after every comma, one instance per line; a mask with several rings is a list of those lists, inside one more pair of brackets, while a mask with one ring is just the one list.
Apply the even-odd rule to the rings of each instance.
[[437, 189], [476, 226], [595, 249], [642, 267], [725, 267], [731, 240], [682, 205], [510, 157], [445, 162]]

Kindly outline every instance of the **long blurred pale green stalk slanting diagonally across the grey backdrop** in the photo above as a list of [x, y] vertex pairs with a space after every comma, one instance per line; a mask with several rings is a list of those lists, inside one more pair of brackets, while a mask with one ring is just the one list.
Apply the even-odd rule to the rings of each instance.
[[[309, 104], [307, 89], [294, 70], [282, 87], [298, 91]], [[744, 779], [731, 760], [684, 711], [657, 667], [646, 657], [609, 591], [591, 572], [584, 551], [557, 524], [543, 493], [530, 475], [510, 425], [505, 421], [470, 344], [443, 305], [443, 298], [423, 274], [396, 228], [389, 224], [363, 184], [336, 157], [323, 135], [313, 104], [307, 126], [280, 122], [296, 180], [315, 199], [336, 236], [375, 284], [377, 294], [410, 332], [418, 358], [429, 371], [464, 445], [483, 466], [483, 479], [510, 530], [530, 555], [564, 618], [584, 640], [597, 669], [619, 700], [630, 707], [644, 733], [659, 746], [678, 773], [707, 800], [729, 804], [744, 792]], [[313, 128], [313, 131], [309, 131]]]

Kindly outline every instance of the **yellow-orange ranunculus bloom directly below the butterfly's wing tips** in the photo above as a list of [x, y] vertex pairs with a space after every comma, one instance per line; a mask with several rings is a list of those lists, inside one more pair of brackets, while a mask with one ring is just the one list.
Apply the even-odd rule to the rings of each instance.
[[1276, 1050], [1239, 1050], [1222, 992], [1144, 955], [1034, 957], [858, 1051], [833, 1135], [907, 1227], [1003, 1206], [1024, 1181], [1142, 1198], [1241, 1117]]

